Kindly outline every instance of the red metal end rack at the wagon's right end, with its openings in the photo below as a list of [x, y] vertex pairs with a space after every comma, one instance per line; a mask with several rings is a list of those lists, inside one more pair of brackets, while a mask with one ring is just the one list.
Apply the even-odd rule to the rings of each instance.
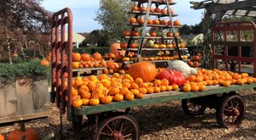
[[[220, 48], [220, 49], [219, 49]], [[245, 54], [245, 48], [252, 48], [251, 56]], [[217, 50], [221, 50], [220, 53]], [[252, 52], [253, 51], [253, 52]], [[217, 60], [224, 61], [226, 70], [232, 70], [233, 62], [238, 64], [241, 72], [241, 62], [253, 63], [253, 75], [256, 76], [256, 25], [253, 21], [220, 22], [212, 27], [212, 57], [213, 68]], [[235, 67], [236, 70], [236, 67]]]

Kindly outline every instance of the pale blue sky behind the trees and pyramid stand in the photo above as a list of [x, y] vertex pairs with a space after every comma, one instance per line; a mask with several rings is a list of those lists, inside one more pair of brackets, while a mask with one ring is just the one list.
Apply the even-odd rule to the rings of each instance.
[[[175, 14], [175, 20], [180, 20], [182, 24], [195, 25], [201, 22], [203, 10], [190, 8], [190, 0], [173, 0], [177, 3], [172, 8]], [[200, 0], [193, 0], [200, 1]], [[100, 8], [100, 0], [44, 0], [41, 6], [50, 12], [57, 12], [62, 8], [70, 8], [73, 13], [73, 31], [90, 32], [102, 29], [96, 19], [96, 11]]]

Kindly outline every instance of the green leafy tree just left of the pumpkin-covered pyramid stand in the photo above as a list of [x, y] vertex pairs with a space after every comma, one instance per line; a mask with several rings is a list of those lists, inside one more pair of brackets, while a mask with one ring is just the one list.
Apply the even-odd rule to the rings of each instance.
[[96, 21], [103, 26], [103, 31], [109, 34], [108, 42], [120, 40], [122, 32], [128, 29], [129, 15], [131, 8], [129, 0], [101, 0], [100, 8], [96, 13]]

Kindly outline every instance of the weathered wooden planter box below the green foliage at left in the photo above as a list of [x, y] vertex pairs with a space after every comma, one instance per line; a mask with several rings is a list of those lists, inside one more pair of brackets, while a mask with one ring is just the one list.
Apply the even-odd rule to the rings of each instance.
[[49, 115], [48, 81], [20, 78], [0, 83], [0, 123], [35, 119]]

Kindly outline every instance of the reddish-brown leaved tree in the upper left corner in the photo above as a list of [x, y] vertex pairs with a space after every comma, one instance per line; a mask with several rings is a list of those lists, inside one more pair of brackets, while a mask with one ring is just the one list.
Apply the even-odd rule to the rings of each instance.
[[[40, 7], [42, 0], [1, 0], [0, 60], [24, 46], [39, 53], [49, 49], [50, 14]], [[9, 53], [6, 53], [9, 52]]]

